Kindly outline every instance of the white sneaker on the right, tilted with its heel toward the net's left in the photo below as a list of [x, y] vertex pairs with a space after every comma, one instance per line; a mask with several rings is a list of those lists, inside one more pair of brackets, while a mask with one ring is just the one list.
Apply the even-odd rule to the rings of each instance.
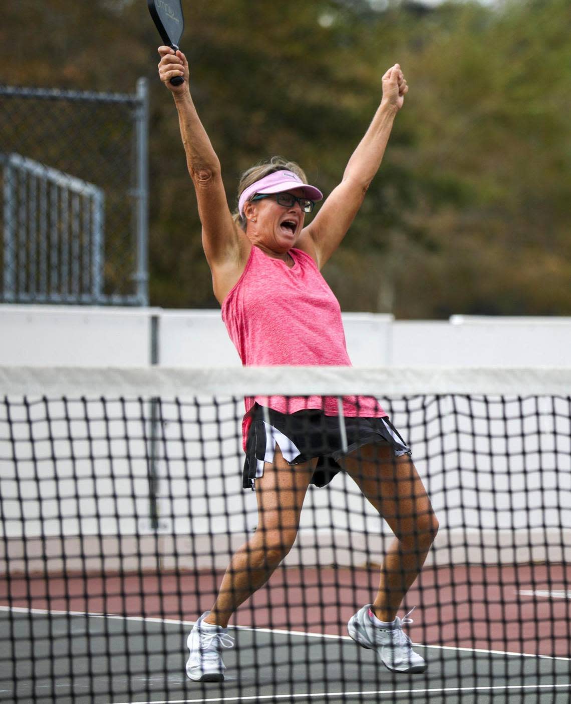
[[370, 604], [363, 606], [349, 620], [347, 629], [353, 641], [362, 648], [377, 650], [383, 665], [391, 672], [425, 672], [428, 667], [425, 660], [415, 653], [410, 638], [403, 632], [403, 624], [413, 622], [408, 618], [412, 610], [403, 620], [396, 617], [390, 627], [383, 628], [372, 622], [370, 608]]

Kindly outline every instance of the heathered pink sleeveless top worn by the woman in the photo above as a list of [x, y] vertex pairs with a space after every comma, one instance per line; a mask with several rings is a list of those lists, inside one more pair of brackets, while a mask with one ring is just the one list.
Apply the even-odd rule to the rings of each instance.
[[[253, 246], [244, 273], [222, 304], [222, 320], [242, 364], [251, 366], [351, 366], [341, 308], [313, 259], [290, 249], [293, 267]], [[336, 396], [247, 397], [244, 448], [256, 401], [280, 413], [320, 408], [338, 415]], [[348, 417], [384, 417], [370, 396], [344, 396]]]

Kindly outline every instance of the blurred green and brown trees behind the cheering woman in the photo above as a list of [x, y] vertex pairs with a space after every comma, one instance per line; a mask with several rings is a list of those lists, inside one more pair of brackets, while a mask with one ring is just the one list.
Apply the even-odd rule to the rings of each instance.
[[[194, 0], [194, 101], [234, 207], [282, 154], [326, 193], [398, 61], [410, 84], [379, 175], [324, 274], [344, 310], [571, 315], [571, 4]], [[19, 0], [3, 83], [132, 92], [151, 80], [151, 302], [216, 306], [175, 108], [142, 0]]]

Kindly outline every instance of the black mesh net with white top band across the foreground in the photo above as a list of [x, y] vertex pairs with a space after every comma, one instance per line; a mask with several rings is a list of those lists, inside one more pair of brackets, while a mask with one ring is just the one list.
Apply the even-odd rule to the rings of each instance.
[[[568, 701], [570, 389], [570, 369], [548, 368], [0, 367], [3, 700]], [[399, 463], [363, 446], [347, 472], [309, 486], [293, 545], [292, 494], [277, 482], [266, 508], [285, 557], [232, 616], [233, 647], [218, 643], [224, 681], [190, 681], [187, 636], [232, 555], [264, 528], [257, 495], [272, 474], [242, 488], [244, 396], [352, 394], [387, 411], [439, 520], [399, 609], [415, 607], [404, 630], [427, 670], [392, 672], [347, 631], [380, 574], [388, 584], [381, 565], [403, 520], [379, 516], [360, 467], [384, 477], [384, 510], [416, 505], [412, 494], [390, 502]], [[332, 418], [350, 449], [347, 419]], [[275, 426], [265, 412], [259, 422]], [[269, 542], [262, 562], [248, 555], [252, 574], [271, 572]]]

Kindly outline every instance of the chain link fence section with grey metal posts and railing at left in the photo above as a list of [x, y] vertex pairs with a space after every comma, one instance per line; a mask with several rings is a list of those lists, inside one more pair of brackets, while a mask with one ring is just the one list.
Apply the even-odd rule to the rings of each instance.
[[0, 302], [148, 305], [148, 105], [0, 86]]

